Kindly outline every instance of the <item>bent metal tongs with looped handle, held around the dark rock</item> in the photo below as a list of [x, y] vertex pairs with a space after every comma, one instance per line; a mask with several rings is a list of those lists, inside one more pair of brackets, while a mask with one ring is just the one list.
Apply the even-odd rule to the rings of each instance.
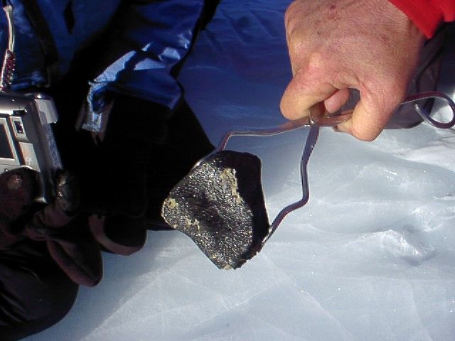
[[[424, 99], [441, 99], [446, 102], [446, 104], [451, 109], [451, 120], [446, 123], [437, 121], [433, 119], [425, 109], [419, 107], [419, 104], [414, 103]], [[422, 92], [419, 94], [414, 94], [410, 97], [406, 97], [406, 99], [400, 105], [410, 103], [414, 103], [415, 111], [420, 115], [420, 117], [422, 117], [422, 119], [424, 119], [424, 121], [427, 121], [429, 124], [435, 126], [436, 128], [449, 129], [455, 125], [455, 103], [450, 97], [441, 92]], [[352, 111], [342, 112], [341, 114], [330, 114], [326, 111], [323, 102], [320, 102], [314, 105], [314, 107], [311, 107], [309, 117], [302, 117], [301, 119], [296, 119], [294, 121], [287, 121], [286, 123], [271, 129], [232, 130], [228, 131], [225, 136], [223, 136], [223, 139], [220, 141], [220, 144], [218, 144], [218, 147], [215, 149], [215, 151], [213, 151], [213, 153], [225, 150], [226, 145], [232, 136], [273, 136], [277, 134], [283, 134], [288, 131], [294, 131], [302, 127], [309, 127], [310, 129], [309, 135], [306, 139], [304, 152], [301, 156], [300, 161], [302, 189], [301, 199], [290, 205], [287, 205], [278, 213], [277, 217], [274, 218], [272, 224], [270, 225], [269, 233], [262, 240], [262, 245], [267, 242], [267, 240], [272, 236], [284, 217], [286, 217], [290, 212], [304, 206], [309, 200], [309, 186], [306, 165], [308, 164], [309, 157], [311, 156], [311, 152], [313, 151], [313, 148], [318, 139], [319, 127], [336, 126], [337, 124], [341, 124], [342, 122], [350, 119], [352, 114]]]

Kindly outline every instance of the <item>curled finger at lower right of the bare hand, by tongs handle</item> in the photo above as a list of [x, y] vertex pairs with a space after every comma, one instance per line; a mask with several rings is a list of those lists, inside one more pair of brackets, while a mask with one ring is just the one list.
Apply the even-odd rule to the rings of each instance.
[[376, 104], [369, 98], [360, 97], [353, 115], [348, 121], [336, 126], [336, 130], [346, 132], [361, 141], [373, 141], [384, 129], [400, 99]]

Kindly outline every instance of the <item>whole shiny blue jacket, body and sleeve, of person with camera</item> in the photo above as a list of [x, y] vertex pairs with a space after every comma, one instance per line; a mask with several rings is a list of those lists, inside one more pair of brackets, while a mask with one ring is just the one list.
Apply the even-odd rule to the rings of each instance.
[[[11, 0], [17, 63], [12, 90], [41, 87], [50, 81], [41, 42], [24, 8], [27, 1]], [[181, 89], [170, 72], [188, 53], [204, 0], [36, 2], [55, 43], [60, 75], [68, 72], [78, 50], [100, 34], [108, 35], [109, 48], [93, 58], [101, 71], [90, 82], [85, 129], [100, 131], [100, 113], [105, 109], [104, 94], [108, 91], [141, 97], [171, 109], [178, 102]], [[119, 9], [122, 13], [117, 13]], [[6, 16], [0, 13], [2, 48], [6, 48], [7, 40]]]

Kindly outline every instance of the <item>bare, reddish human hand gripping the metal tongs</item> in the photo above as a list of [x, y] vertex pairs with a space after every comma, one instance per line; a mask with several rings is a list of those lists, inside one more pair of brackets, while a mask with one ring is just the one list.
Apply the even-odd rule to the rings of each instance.
[[423, 34], [387, 0], [296, 0], [285, 22], [294, 78], [282, 97], [284, 117], [308, 116], [319, 102], [336, 112], [355, 88], [360, 102], [336, 128], [375, 139], [405, 98]]

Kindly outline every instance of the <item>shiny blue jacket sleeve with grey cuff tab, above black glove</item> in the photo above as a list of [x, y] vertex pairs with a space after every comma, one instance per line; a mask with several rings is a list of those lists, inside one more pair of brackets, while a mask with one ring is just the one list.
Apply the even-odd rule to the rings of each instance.
[[173, 67], [191, 48], [204, 0], [124, 1], [112, 22], [102, 68], [90, 83], [84, 129], [102, 131], [107, 93], [170, 109], [181, 97]]

